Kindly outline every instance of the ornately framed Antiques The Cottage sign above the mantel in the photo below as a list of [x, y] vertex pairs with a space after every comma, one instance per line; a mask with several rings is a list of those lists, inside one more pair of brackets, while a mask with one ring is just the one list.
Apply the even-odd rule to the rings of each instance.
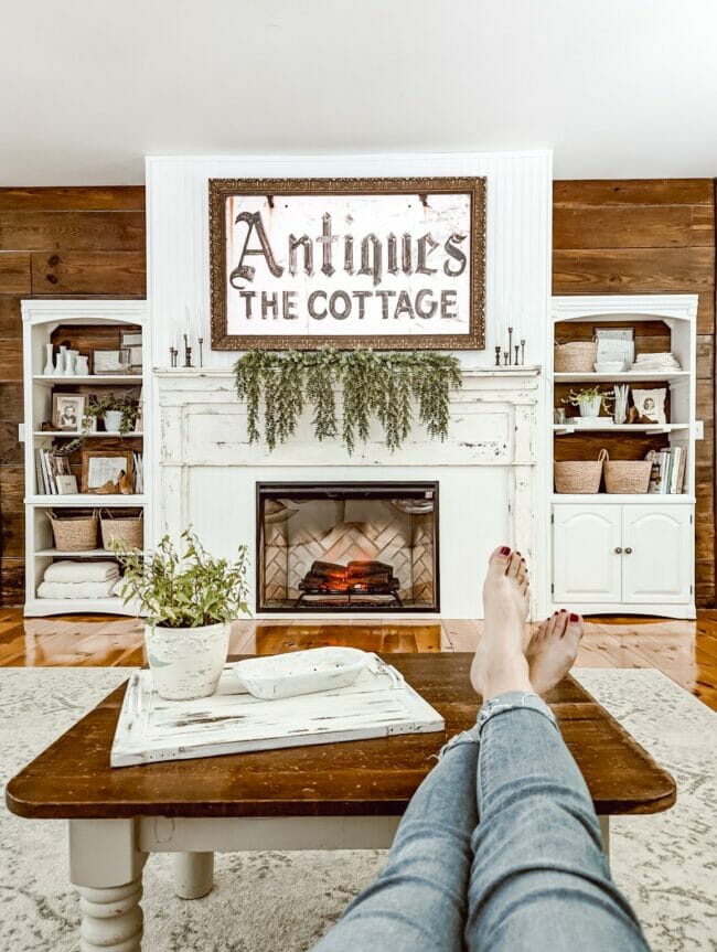
[[212, 346], [482, 350], [485, 179], [211, 179]]

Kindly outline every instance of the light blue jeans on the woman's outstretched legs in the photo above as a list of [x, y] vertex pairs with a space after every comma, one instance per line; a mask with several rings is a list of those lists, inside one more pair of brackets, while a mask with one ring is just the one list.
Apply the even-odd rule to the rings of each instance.
[[493, 698], [446, 745], [383, 873], [314, 952], [463, 949], [649, 952], [585, 780], [535, 694]]

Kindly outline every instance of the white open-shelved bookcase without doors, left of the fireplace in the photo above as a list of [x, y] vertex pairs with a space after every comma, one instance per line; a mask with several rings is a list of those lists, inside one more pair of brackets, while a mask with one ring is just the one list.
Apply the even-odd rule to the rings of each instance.
[[[25, 469], [25, 614], [29, 617], [62, 614], [67, 612], [106, 612], [110, 614], [133, 614], [136, 606], [125, 605], [121, 598], [110, 596], [95, 599], [39, 598], [36, 592], [46, 567], [53, 559], [98, 559], [113, 558], [114, 553], [101, 547], [81, 552], [62, 552], [55, 547], [47, 513], [62, 510], [67, 515], [74, 510], [141, 510], [145, 522], [145, 544], [149, 533], [150, 496], [145, 492], [132, 495], [99, 493], [73, 493], [58, 495], [42, 490], [49, 484], [49, 473], [44, 461], [36, 452], [51, 452], [67, 446], [79, 437], [87, 440], [87, 448], [106, 449], [113, 443], [118, 448], [143, 452], [147, 446], [148, 421], [143, 418], [141, 430], [129, 434], [114, 431], [75, 432], [71, 430], [44, 430], [42, 425], [52, 419], [53, 393], [72, 393], [74, 387], [81, 394], [92, 394], [93, 388], [114, 387], [118, 392], [130, 388], [151, 391], [149, 353], [149, 332], [147, 328], [147, 303], [135, 300], [32, 300], [22, 302], [23, 319], [23, 381], [24, 381], [24, 469]], [[81, 353], [88, 353], [95, 345], [111, 350], [119, 346], [121, 331], [142, 332], [142, 373], [141, 374], [44, 374], [47, 359], [46, 345], [56, 345], [67, 339]], [[55, 389], [56, 388], [56, 389]], [[127, 440], [133, 440], [127, 443]], [[106, 440], [106, 446], [99, 443]], [[141, 442], [139, 442], [141, 441]], [[78, 470], [73, 463], [73, 474]], [[42, 481], [42, 482], [40, 482]], [[52, 482], [52, 481], [50, 481]], [[77, 479], [79, 482], [79, 478]], [[141, 484], [140, 484], [141, 489]], [[98, 539], [99, 542], [99, 539]]]

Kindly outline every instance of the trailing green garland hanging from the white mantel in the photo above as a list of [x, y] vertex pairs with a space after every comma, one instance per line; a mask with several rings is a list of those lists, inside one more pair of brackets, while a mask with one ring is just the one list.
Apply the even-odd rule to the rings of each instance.
[[[365, 442], [372, 417], [384, 428], [386, 448], [398, 449], [414, 418], [431, 437], [448, 436], [451, 391], [460, 389], [458, 359], [436, 351], [249, 351], [234, 365], [236, 393], [247, 405], [249, 442], [264, 438], [272, 450], [293, 436], [304, 406], [313, 408], [317, 439], [341, 436], [352, 453]], [[335, 391], [343, 392], [341, 426]]]

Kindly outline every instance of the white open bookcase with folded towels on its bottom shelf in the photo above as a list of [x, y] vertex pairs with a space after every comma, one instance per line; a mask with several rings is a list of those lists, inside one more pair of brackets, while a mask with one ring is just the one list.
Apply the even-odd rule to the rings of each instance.
[[[97, 393], [109, 388], [137, 387], [142, 389], [143, 427], [141, 431], [126, 434], [125, 437], [142, 439], [145, 451], [145, 489], [150, 475], [147, 459], [149, 421], [147, 409], [151, 394], [150, 336], [147, 321], [146, 301], [105, 301], [105, 300], [31, 300], [22, 302], [23, 319], [23, 383], [24, 383], [24, 474], [25, 474], [25, 616], [47, 616], [75, 612], [103, 612], [108, 614], [132, 614], [133, 606], [126, 606], [121, 598], [101, 599], [47, 599], [38, 598], [38, 587], [44, 571], [58, 558], [107, 558], [113, 553], [103, 548], [84, 552], [62, 553], [55, 548], [52, 526], [47, 513], [52, 510], [72, 509], [141, 509], [145, 522], [145, 545], [149, 538], [151, 512], [150, 493], [133, 495], [96, 495], [77, 493], [73, 495], [47, 495], [36, 484], [35, 450], [50, 448], [53, 442], [76, 439], [79, 434], [67, 430], [43, 430], [41, 425], [52, 416], [53, 387], [62, 385], [79, 386], [86, 391], [96, 388]], [[121, 328], [142, 329], [142, 373], [141, 374], [87, 374], [67, 376], [45, 374], [45, 344], [60, 327], [72, 328]], [[98, 431], [83, 435], [88, 445], [98, 438], [114, 439], [119, 442], [120, 434]]]

